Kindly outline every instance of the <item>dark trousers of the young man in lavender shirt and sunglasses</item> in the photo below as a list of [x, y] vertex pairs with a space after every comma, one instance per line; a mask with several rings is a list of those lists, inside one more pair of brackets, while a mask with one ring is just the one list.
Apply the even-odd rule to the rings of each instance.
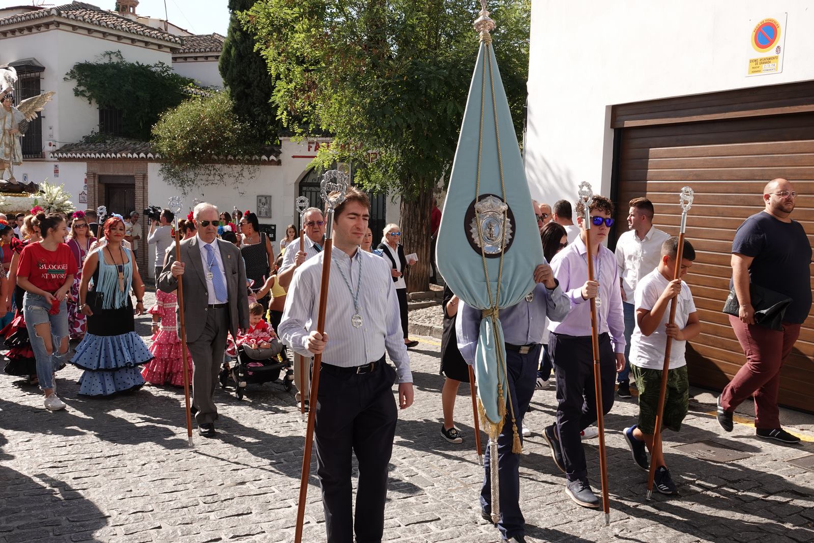
[[[597, 396], [593, 381], [593, 349], [589, 335], [551, 332], [549, 350], [557, 372], [557, 431], [569, 481], [588, 476], [580, 432], [597, 422]], [[599, 336], [602, 413], [613, 407], [616, 356], [607, 334]]]

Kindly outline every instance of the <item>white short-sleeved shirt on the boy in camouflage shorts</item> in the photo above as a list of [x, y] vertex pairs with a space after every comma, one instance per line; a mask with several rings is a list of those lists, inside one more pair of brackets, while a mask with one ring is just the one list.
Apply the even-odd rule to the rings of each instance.
[[[659, 296], [670, 282], [659, 273], [658, 269], [654, 269], [647, 274], [639, 282], [636, 287], [635, 304], [636, 310], [639, 309], [653, 309], [653, 306], [659, 300]], [[684, 328], [687, 326], [687, 319], [690, 313], [695, 313], [695, 302], [693, 301], [693, 293], [689, 290], [689, 286], [685, 282], [681, 282], [681, 293], [678, 295], [678, 305], [676, 307], [676, 320], [674, 321], [678, 326]], [[650, 335], [644, 335], [639, 328], [638, 319], [636, 320], [636, 328], [633, 330], [633, 335], [630, 341], [630, 363], [633, 366], [640, 368], [650, 368], [652, 370], [661, 370], [664, 367], [664, 349], [667, 348], [667, 321], [670, 320], [670, 305], [667, 304], [667, 309], [664, 310], [662, 320], [659, 326], [656, 326], [655, 331]], [[672, 340], [670, 348], [670, 369], [675, 370], [681, 366], [685, 366], [687, 362], [684, 358], [684, 353], [687, 348], [686, 341]]]

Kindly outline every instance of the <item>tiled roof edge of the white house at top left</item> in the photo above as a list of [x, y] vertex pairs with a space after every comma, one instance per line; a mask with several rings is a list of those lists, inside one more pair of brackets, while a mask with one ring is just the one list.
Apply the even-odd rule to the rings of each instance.
[[75, 20], [77, 22], [87, 24], [94, 24], [95, 26], [111, 28], [112, 30], [119, 30], [120, 32], [136, 34], [138, 36], [153, 37], [155, 39], [177, 43], [179, 45], [183, 43], [181, 37], [161, 32], [155, 28], [126, 19], [125, 17], [120, 17], [111, 11], [104, 11], [100, 7], [86, 4], [85, 2], [72, 2], [70, 4], [64, 4], [63, 6], [28, 11], [26, 13], [21, 13], [20, 15], [9, 15], [8, 17], [3, 17], [0, 19], [0, 27], [7, 24], [36, 21], [50, 16], [67, 20]]

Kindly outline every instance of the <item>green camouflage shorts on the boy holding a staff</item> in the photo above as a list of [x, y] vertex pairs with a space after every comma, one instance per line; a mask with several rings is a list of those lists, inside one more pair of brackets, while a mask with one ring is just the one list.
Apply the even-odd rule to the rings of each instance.
[[[652, 434], [656, 426], [662, 370], [631, 366], [636, 387], [639, 389], [639, 429]], [[689, 409], [689, 376], [687, 366], [667, 371], [667, 397], [664, 399], [663, 428], [681, 430]]]

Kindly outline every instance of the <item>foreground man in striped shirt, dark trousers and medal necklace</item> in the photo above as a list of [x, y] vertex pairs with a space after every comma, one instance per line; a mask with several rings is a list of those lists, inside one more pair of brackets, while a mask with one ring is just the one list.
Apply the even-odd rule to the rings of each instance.
[[[324, 252], [296, 270], [279, 326], [283, 343], [295, 352], [322, 353], [314, 430], [329, 543], [349, 543], [354, 533], [356, 541], [382, 541], [387, 464], [398, 418], [393, 383], [399, 383], [400, 408], [413, 403], [413, 375], [389, 265], [358, 247], [370, 200], [353, 187], [346, 194], [334, 216], [325, 334], [316, 331]], [[395, 369], [385, 361], [385, 350]], [[352, 451], [359, 462], [355, 523]]]

